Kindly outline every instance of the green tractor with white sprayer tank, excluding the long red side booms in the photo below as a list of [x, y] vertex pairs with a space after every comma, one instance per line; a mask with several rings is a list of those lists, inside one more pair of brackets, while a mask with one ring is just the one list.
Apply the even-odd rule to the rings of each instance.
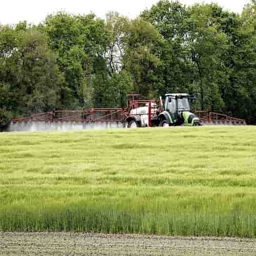
[[[160, 97], [160, 101], [139, 100], [139, 95], [127, 96], [130, 97], [127, 105], [130, 113], [126, 116], [126, 125], [129, 128], [202, 125], [201, 120], [191, 112], [190, 102], [195, 102], [195, 97], [188, 94], [165, 94], [164, 100]], [[140, 106], [141, 103], [144, 106]]]

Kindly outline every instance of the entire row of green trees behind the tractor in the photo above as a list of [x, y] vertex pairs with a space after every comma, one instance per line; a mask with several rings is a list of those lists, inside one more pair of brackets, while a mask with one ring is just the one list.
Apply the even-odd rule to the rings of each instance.
[[111, 12], [0, 26], [0, 123], [52, 109], [124, 106], [127, 93], [197, 95], [195, 107], [256, 122], [256, 2], [161, 0], [130, 20]]

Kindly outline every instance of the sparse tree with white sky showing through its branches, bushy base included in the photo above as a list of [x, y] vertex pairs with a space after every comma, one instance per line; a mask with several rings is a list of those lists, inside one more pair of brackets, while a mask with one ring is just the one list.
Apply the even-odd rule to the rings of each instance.
[[95, 69], [98, 70], [93, 79], [94, 105], [96, 106], [125, 106], [126, 94], [133, 92], [132, 76], [124, 70], [123, 63], [125, 38], [129, 32], [130, 23], [128, 18], [117, 12], [106, 14], [107, 45], [104, 52], [106, 62], [97, 62]]

